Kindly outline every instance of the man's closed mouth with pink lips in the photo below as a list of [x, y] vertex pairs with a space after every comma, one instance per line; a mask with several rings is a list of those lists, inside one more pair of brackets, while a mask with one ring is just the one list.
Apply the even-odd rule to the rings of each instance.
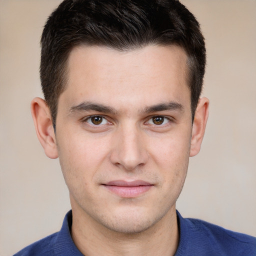
[[139, 196], [148, 191], [153, 185], [143, 181], [124, 181], [124, 180], [112, 180], [106, 184], [102, 184], [110, 192], [126, 198], [132, 198]]

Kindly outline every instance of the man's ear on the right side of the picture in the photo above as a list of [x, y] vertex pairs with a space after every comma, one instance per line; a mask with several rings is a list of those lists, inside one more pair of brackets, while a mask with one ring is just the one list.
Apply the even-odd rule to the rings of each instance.
[[208, 119], [208, 110], [209, 100], [206, 97], [200, 98], [194, 114], [189, 156], [194, 156], [200, 151], [206, 122]]

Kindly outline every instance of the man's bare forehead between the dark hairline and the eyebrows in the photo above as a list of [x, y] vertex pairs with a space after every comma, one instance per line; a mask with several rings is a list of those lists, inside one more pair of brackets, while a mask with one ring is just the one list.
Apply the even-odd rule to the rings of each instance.
[[69, 54], [62, 94], [70, 104], [99, 99], [104, 104], [135, 103], [142, 98], [145, 104], [157, 104], [157, 97], [163, 97], [162, 101], [190, 97], [186, 63], [186, 53], [175, 45], [148, 45], [130, 51], [77, 46]]

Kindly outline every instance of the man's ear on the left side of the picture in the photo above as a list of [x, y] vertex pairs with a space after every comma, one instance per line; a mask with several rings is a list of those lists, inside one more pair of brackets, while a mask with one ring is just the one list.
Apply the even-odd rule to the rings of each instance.
[[46, 102], [36, 97], [31, 102], [31, 114], [37, 137], [49, 158], [57, 158], [57, 146], [51, 114]]

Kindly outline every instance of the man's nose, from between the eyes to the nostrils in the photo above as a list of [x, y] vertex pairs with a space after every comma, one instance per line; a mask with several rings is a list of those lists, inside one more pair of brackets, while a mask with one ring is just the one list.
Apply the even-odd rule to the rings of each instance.
[[144, 165], [148, 159], [143, 131], [134, 124], [119, 127], [113, 137], [110, 160], [125, 171], [132, 171]]

